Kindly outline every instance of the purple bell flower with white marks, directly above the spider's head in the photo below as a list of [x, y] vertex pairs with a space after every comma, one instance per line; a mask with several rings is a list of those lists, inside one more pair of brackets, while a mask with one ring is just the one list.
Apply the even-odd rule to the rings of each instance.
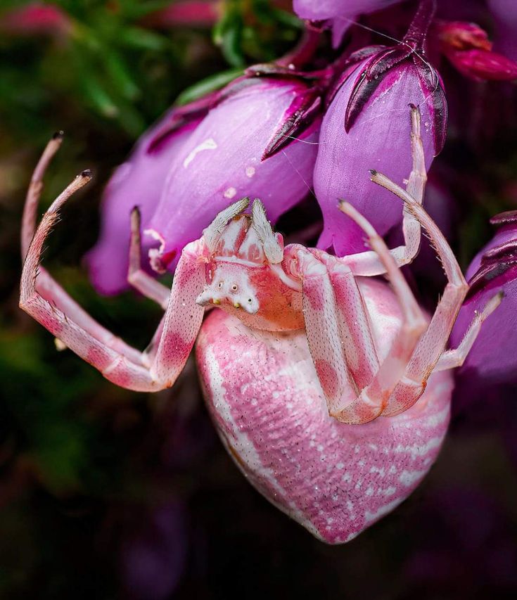
[[275, 222], [312, 186], [320, 98], [298, 77], [255, 77], [226, 96], [181, 146], [146, 232], [156, 269], [239, 198], [260, 198]]

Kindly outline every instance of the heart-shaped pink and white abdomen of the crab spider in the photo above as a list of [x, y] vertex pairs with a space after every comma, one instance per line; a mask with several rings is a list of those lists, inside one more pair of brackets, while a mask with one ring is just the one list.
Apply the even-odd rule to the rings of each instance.
[[[378, 293], [378, 283], [366, 288], [371, 306], [368, 291]], [[392, 306], [386, 290], [383, 310]], [[397, 317], [374, 323], [384, 332], [376, 340], [380, 358]], [[196, 356], [212, 419], [238, 467], [270, 502], [331, 544], [351, 540], [407, 498], [445, 437], [449, 371], [431, 377], [403, 414], [347, 425], [328, 416], [305, 331], [256, 331], [216, 310]]]

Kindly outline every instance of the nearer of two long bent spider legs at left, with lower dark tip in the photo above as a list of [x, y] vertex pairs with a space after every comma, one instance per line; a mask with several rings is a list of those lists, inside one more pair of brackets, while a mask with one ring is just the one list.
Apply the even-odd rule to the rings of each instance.
[[[83, 172], [54, 200], [39, 223], [27, 250], [20, 283], [20, 307], [39, 321], [58, 340], [103, 376], [124, 388], [155, 391], [169, 387], [181, 372], [196, 339], [203, 308], [195, 299], [203, 290], [205, 264], [198, 260], [202, 242], [184, 248], [171, 291], [171, 300], [163, 319], [160, 338], [151, 364], [148, 357], [115, 338], [84, 312], [52, 277], [40, 269], [46, 237], [58, 221], [58, 212], [75, 191], [91, 179]], [[40, 186], [41, 189], [41, 186]], [[31, 196], [30, 202], [36, 204]], [[32, 208], [31, 210], [35, 210]], [[30, 210], [25, 223], [30, 227]]]

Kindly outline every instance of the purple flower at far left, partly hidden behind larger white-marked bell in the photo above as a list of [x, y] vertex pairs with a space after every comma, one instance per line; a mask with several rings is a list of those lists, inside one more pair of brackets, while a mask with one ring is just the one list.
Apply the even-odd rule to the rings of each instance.
[[[129, 288], [131, 211], [139, 206], [142, 224], [148, 224], [174, 156], [199, 122], [194, 119], [171, 130], [179, 113], [179, 110], [170, 111], [143, 134], [129, 160], [117, 167], [108, 182], [101, 206], [101, 235], [85, 257], [90, 279], [99, 293], [112, 295]], [[143, 268], [147, 262], [147, 259], [142, 261]]]

